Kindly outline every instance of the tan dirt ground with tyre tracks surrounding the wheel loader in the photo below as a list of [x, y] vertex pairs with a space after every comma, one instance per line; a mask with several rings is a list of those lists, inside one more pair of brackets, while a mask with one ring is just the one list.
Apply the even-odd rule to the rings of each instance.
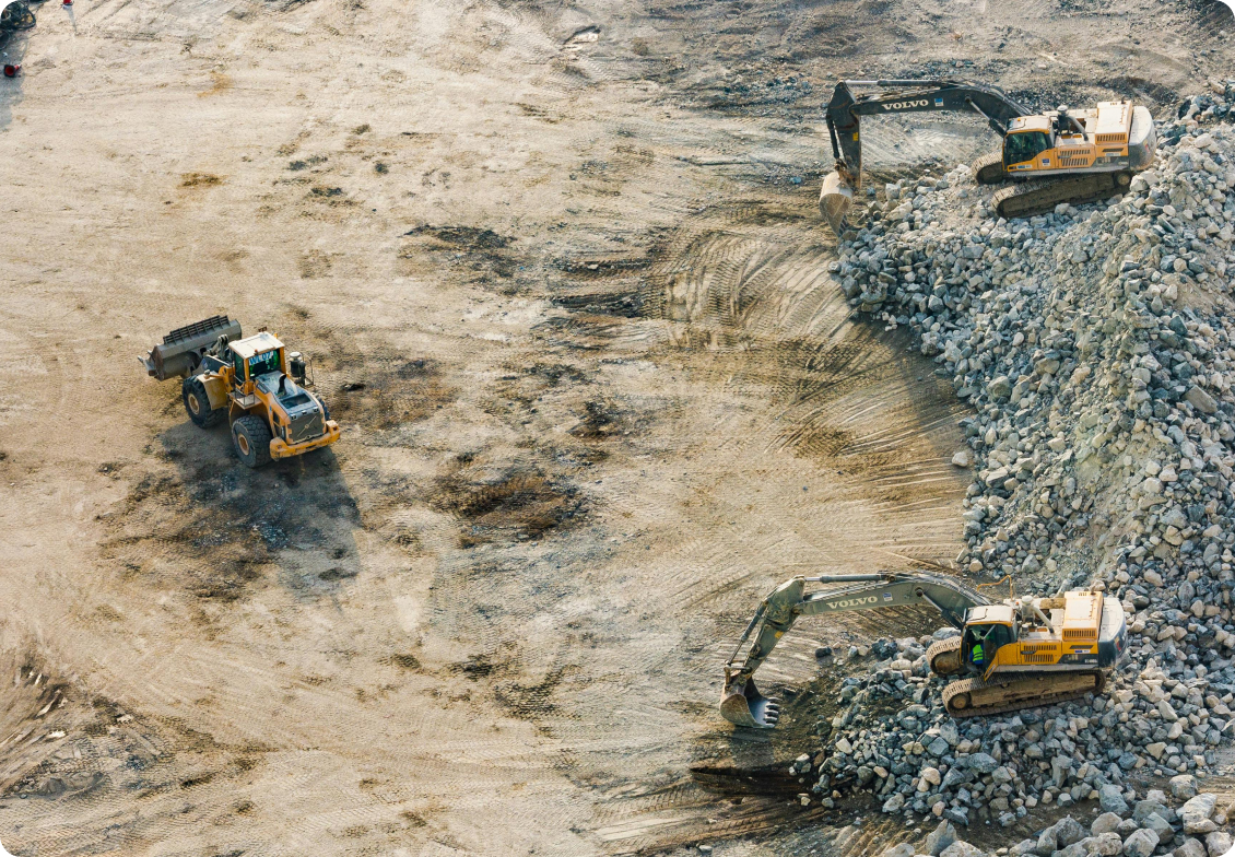
[[[946, 563], [963, 416], [850, 319], [815, 210], [846, 77], [1168, 110], [1198, 0], [38, 7], [0, 82], [0, 841], [53, 855], [862, 853], [734, 731], [799, 573]], [[951, 167], [963, 117], [867, 132]], [[137, 358], [226, 312], [340, 443], [262, 470]], [[813, 650], [920, 615], [804, 625]], [[827, 682], [810, 687], [826, 687]], [[776, 771], [783, 772], [781, 764]]]

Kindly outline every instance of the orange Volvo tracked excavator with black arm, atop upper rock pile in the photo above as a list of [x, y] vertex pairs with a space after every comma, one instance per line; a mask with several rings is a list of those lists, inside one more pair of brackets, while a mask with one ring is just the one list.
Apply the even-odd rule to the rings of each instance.
[[[855, 96], [858, 86], [887, 91]], [[978, 184], [1011, 180], [992, 199], [1008, 219], [1121, 194], [1157, 147], [1153, 117], [1131, 101], [1035, 115], [997, 86], [966, 80], [841, 80], [825, 116], [836, 169], [819, 195], [819, 211], [836, 235], [862, 188], [861, 117], [939, 111], [978, 114], [1003, 137], [1002, 151], [979, 158], [973, 175]]]

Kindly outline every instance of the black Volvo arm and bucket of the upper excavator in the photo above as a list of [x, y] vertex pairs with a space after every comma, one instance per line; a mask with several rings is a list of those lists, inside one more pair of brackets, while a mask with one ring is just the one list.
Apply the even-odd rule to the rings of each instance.
[[[851, 86], [888, 86], [877, 95], [855, 98]], [[862, 116], [937, 111], [976, 112], [1000, 137], [1008, 123], [1031, 111], [1000, 89], [965, 80], [841, 80], [832, 91], [825, 120], [831, 137], [836, 172], [824, 179], [819, 210], [832, 231], [840, 233], [853, 194], [862, 189]]]

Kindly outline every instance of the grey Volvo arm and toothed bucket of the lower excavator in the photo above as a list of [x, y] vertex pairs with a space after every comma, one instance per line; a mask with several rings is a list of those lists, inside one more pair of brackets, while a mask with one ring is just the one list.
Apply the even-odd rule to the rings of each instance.
[[[808, 583], [863, 585], [806, 594]], [[755, 671], [799, 616], [926, 604], [939, 610], [948, 625], [960, 629], [965, 626], [969, 608], [989, 603], [976, 589], [940, 574], [831, 574], [785, 580], [760, 603], [725, 663], [720, 713], [736, 726], [776, 726], [781, 716], [779, 706], [756, 689]], [[739, 657], [748, 641], [752, 642], [739, 667]]]

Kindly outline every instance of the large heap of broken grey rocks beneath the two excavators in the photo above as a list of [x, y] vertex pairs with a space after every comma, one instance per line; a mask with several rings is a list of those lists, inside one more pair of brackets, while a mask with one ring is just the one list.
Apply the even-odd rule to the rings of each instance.
[[[885, 813], [960, 825], [1100, 801], [1109, 829], [1019, 852], [1040, 857], [1147, 857], [1200, 835], [1137, 783], [1171, 775], [1192, 799], [1235, 738], [1235, 82], [1212, 89], [1160, 123], [1123, 198], [1009, 222], [958, 167], [887, 185], [842, 236], [852, 305], [908, 326], [973, 408], [953, 459], [974, 470], [958, 561], [1021, 593], [1105, 590], [1130, 651], [1104, 696], [955, 721], [930, 640], [883, 641], [794, 763], [811, 799], [868, 790]], [[1210, 847], [1188, 842], [1178, 857]]]

